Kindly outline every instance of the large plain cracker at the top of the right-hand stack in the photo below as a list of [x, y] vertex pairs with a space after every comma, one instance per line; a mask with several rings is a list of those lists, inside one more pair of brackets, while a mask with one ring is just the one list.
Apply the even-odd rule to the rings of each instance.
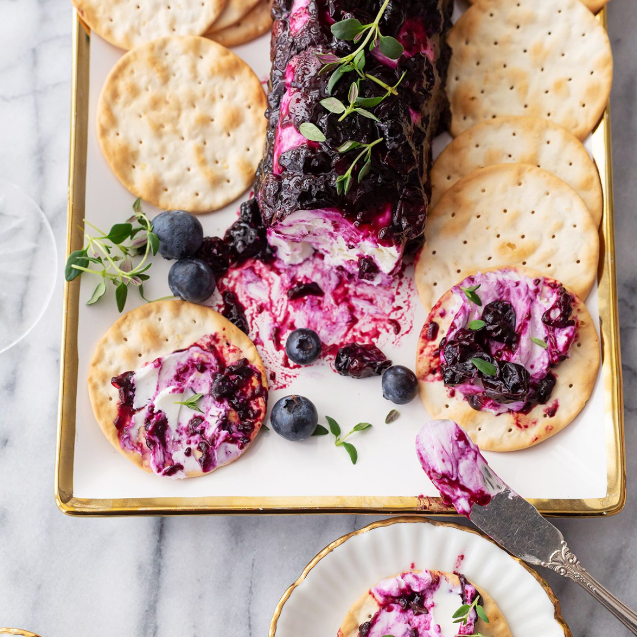
[[529, 115], [583, 140], [608, 102], [608, 34], [579, 0], [477, 0], [448, 43], [454, 136], [499, 115]]

